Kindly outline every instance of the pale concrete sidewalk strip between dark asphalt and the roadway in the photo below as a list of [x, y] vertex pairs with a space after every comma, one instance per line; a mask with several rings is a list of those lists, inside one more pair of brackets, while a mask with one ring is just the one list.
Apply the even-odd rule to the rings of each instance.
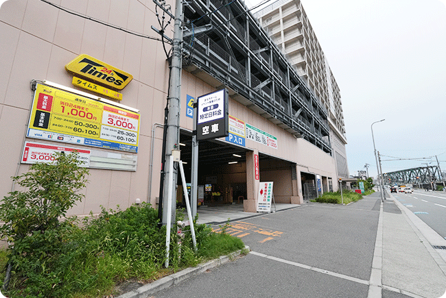
[[411, 297], [446, 292], [446, 240], [392, 195], [384, 201], [382, 286]]

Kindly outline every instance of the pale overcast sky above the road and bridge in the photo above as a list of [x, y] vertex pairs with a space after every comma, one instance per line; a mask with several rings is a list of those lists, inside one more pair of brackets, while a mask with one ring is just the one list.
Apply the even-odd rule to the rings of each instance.
[[383, 173], [435, 156], [445, 172], [446, 0], [301, 2], [340, 88], [350, 175], [377, 175], [382, 119]]

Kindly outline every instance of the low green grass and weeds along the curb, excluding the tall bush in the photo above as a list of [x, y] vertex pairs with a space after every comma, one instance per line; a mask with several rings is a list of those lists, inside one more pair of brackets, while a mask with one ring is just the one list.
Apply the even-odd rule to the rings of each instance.
[[[183, 213], [176, 214], [181, 220]], [[196, 225], [198, 251], [194, 251], [191, 233], [186, 231], [185, 237], [179, 238], [174, 226], [166, 269], [166, 227], [158, 228], [157, 221], [158, 211], [141, 203], [124, 211], [103, 209], [97, 219], [85, 219], [82, 225], [60, 223], [51, 237], [62, 245], [51, 249], [51, 254], [36, 248], [12, 258], [0, 251], [3, 268], [8, 258], [14, 261], [8, 291], [2, 292], [7, 297], [106, 297], [114, 294], [119, 282], [152, 282], [244, 248], [239, 238]]]

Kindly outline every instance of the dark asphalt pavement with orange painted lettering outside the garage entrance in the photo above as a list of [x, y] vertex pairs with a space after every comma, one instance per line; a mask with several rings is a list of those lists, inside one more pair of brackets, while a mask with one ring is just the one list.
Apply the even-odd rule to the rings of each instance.
[[[235, 221], [227, 232], [250, 247], [247, 256], [152, 297], [367, 297], [379, 201], [307, 203]], [[382, 297], [408, 296], [383, 289]]]

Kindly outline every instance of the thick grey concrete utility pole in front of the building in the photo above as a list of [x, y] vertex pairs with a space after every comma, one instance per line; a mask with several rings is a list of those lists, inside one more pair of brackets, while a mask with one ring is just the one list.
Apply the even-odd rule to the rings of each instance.
[[[181, 96], [181, 63], [182, 63], [182, 44], [183, 44], [183, 3], [181, 0], [175, 1], [175, 23], [174, 23], [174, 40], [172, 44], [172, 60], [170, 64], [170, 80], [169, 80], [169, 115], [167, 116], [167, 140], [164, 171], [169, 171], [166, 164], [169, 164], [172, 158], [172, 149], [176, 149], [180, 143], [180, 96]], [[164, 178], [164, 195], [163, 203], [167, 204], [172, 201], [172, 216], [167, 219], [167, 208], [163, 208], [163, 224], [167, 221], [175, 222], [176, 210], [176, 178], [178, 171], [166, 172]], [[173, 176], [173, 177], [172, 177]], [[169, 198], [169, 179], [173, 179], [171, 184], [173, 198]], [[161, 203], [161, 202], [160, 202]], [[164, 206], [167, 207], [167, 206]]]

